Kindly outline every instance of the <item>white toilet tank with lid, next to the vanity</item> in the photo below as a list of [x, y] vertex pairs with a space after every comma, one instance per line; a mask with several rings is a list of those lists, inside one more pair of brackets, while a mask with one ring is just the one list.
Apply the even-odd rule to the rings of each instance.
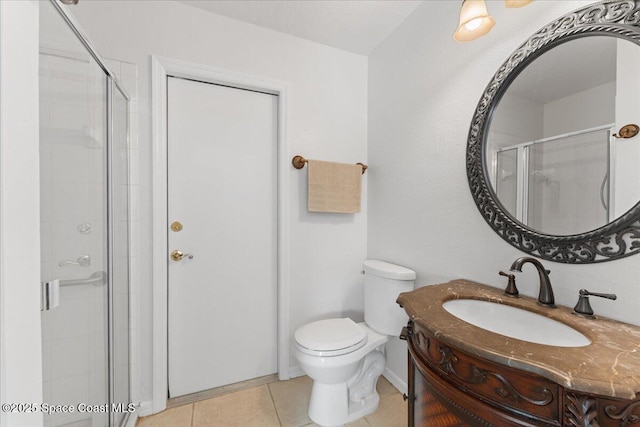
[[413, 290], [416, 272], [384, 261], [364, 261], [364, 321], [376, 332], [399, 336], [408, 317], [396, 299]]

